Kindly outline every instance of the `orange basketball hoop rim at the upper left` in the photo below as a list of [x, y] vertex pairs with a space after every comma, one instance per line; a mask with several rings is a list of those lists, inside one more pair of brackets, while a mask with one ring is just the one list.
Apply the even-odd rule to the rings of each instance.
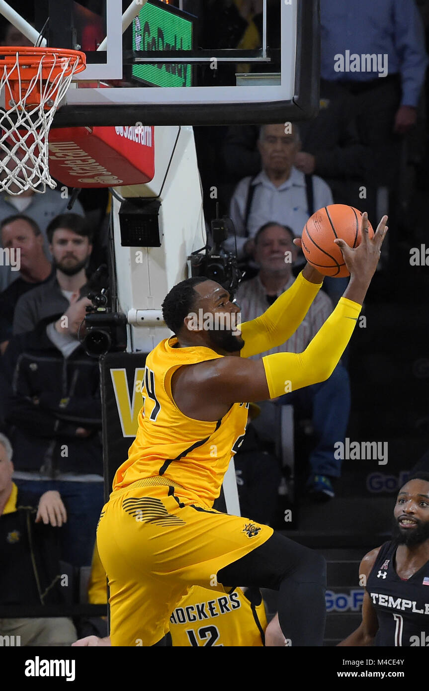
[[1, 46], [0, 75], [6, 86], [5, 108], [49, 109], [65, 79], [86, 68], [86, 55], [67, 48]]

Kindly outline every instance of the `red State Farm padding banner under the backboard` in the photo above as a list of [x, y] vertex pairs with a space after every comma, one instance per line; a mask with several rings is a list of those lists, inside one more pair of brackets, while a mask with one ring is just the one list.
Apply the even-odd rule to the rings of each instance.
[[144, 184], [155, 173], [153, 127], [68, 127], [49, 133], [50, 174], [69, 187]]

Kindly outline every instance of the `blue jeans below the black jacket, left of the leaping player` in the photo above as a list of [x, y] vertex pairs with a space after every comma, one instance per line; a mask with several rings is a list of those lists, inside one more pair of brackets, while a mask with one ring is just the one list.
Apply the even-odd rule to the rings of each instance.
[[90, 566], [95, 531], [104, 506], [103, 482], [66, 480], [15, 480], [22, 491], [42, 495], [57, 490], [67, 511], [61, 527], [61, 559], [76, 567]]

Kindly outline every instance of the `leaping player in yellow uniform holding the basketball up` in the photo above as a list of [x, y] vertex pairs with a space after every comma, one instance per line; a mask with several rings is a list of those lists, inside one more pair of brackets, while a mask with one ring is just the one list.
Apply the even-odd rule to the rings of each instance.
[[285, 638], [293, 646], [322, 645], [323, 558], [267, 526], [211, 507], [244, 435], [247, 401], [330, 377], [379, 261], [386, 220], [371, 239], [363, 214], [356, 249], [335, 240], [350, 283], [302, 353], [248, 359], [284, 343], [303, 320], [323, 281], [308, 264], [265, 314], [241, 325], [241, 333], [220, 320], [239, 308], [218, 283], [189, 278], [167, 294], [164, 321], [175, 336], [146, 359], [137, 436], [97, 531], [111, 594], [112, 645], [164, 645], [171, 612], [192, 585], [224, 593], [238, 585], [278, 589]]

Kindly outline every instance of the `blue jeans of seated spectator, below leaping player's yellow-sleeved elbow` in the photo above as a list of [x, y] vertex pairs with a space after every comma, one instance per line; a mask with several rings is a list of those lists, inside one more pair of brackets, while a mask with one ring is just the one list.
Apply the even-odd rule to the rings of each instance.
[[339, 363], [329, 379], [285, 394], [278, 405], [292, 404], [295, 417], [312, 415], [316, 446], [309, 457], [314, 475], [340, 477], [341, 460], [334, 458], [335, 442], [343, 442], [350, 415], [350, 380]]

